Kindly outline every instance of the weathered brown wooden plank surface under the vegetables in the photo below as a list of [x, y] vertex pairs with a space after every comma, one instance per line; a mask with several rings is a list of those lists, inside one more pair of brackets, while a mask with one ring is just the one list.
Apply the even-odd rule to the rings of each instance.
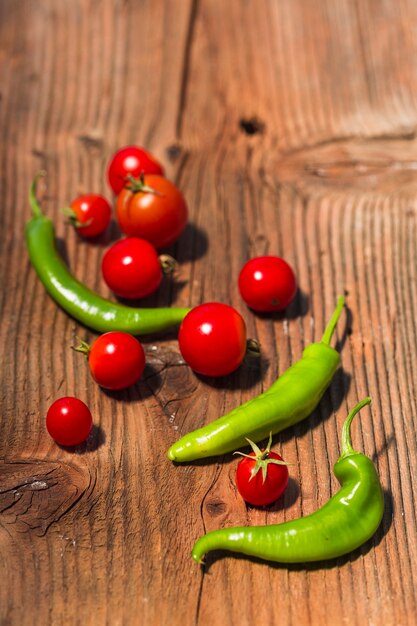
[[[191, 626], [415, 624], [417, 589], [417, 4], [413, 0], [0, 0], [0, 623]], [[78, 278], [100, 273], [114, 224], [80, 240], [59, 208], [110, 190], [105, 167], [136, 143], [183, 190], [180, 263], [148, 305], [235, 306], [261, 365], [197, 377], [175, 332], [144, 340], [143, 380], [106, 393], [70, 350], [95, 337], [61, 311], [29, 265], [34, 173]], [[237, 276], [278, 254], [300, 293], [256, 316]], [[284, 498], [245, 506], [231, 455], [174, 466], [181, 434], [266, 389], [321, 336], [338, 294], [342, 369], [319, 408], [274, 438], [291, 461]], [[307, 515], [332, 473], [349, 408], [386, 495], [375, 537], [334, 562], [271, 566], [194, 541], [224, 526]], [[45, 430], [63, 395], [88, 403], [75, 451]]]

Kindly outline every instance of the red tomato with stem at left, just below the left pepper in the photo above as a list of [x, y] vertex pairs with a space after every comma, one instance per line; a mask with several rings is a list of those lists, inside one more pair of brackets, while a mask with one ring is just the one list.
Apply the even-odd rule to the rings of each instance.
[[114, 331], [100, 335], [84, 351], [94, 380], [105, 389], [125, 389], [143, 374], [145, 353], [139, 341], [128, 333]]

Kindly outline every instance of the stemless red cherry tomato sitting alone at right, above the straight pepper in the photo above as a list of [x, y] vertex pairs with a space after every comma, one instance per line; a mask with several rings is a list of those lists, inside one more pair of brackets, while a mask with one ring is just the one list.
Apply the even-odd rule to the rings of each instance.
[[239, 291], [255, 311], [282, 311], [297, 293], [297, 281], [291, 267], [277, 256], [250, 259], [239, 274]]

